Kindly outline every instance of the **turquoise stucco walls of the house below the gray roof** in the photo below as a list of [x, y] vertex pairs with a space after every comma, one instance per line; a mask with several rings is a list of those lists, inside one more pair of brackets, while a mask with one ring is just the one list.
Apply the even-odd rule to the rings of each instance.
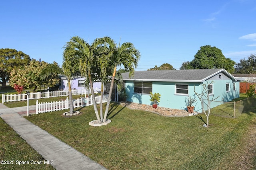
[[[219, 78], [218, 75], [208, 79], [204, 84], [207, 84], [214, 81], [213, 84], [213, 94], [210, 95], [210, 99], [216, 98], [218, 102], [212, 102], [211, 108], [216, 107], [223, 102], [229, 102], [234, 98], [239, 97], [239, 82], [236, 83], [236, 90], [233, 90], [233, 81], [222, 75]], [[226, 91], [226, 83], [229, 83], [230, 90]], [[176, 94], [176, 84], [187, 84], [188, 85], [188, 95], [180, 95]], [[126, 93], [128, 94], [127, 101], [139, 103], [139, 104], [147, 104], [151, 105], [150, 95], [149, 94], [140, 94], [134, 93], [134, 81], [126, 81], [125, 82]], [[202, 105], [199, 101], [198, 97], [195, 95], [194, 90], [201, 94], [203, 90], [202, 83], [199, 82], [152, 82], [152, 93], [161, 94], [159, 105], [160, 107], [167, 107], [172, 109], [185, 109], [186, 108], [186, 99], [191, 96], [192, 98], [196, 98], [196, 102], [193, 104], [194, 111], [202, 112]], [[206, 99], [206, 98], [204, 98]], [[204, 106], [206, 108], [206, 106]]]

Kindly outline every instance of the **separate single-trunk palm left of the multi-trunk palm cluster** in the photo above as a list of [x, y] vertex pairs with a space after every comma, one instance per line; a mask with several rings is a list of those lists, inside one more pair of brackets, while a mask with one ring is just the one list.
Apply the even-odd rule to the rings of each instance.
[[73, 98], [72, 98], [72, 89], [70, 81], [72, 80], [72, 77], [79, 74], [79, 64], [77, 62], [77, 56], [75, 55], [75, 51], [72, 48], [72, 43], [68, 42], [66, 43], [66, 49], [64, 49], [63, 52], [63, 63], [62, 68], [64, 71], [64, 74], [68, 78], [68, 98], [69, 98], [69, 113], [74, 113], [74, 104], [73, 104]]

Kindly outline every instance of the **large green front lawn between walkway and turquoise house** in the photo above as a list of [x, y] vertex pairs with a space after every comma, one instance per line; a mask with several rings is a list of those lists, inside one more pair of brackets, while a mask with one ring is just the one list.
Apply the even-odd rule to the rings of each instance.
[[[202, 127], [203, 114], [163, 117], [115, 103], [108, 115], [112, 122], [91, 127], [93, 107], [80, 111], [69, 118], [62, 116], [65, 110], [26, 118], [110, 170], [237, 169], [236, 155], [247, 147], [248, 127], [256, 129], [256, 107], [237, 119], [210, 115], [209, 128]], [[254, 155], [252, 169], [255, 160]]]

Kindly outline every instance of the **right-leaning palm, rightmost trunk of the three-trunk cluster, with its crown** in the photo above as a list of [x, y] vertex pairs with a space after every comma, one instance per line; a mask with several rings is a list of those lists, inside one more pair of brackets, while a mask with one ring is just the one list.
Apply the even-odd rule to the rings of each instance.
[[114, 69], [112, 72], [112, 81], [110, 84], [108, 102], [106, 105], [103, 122], [106, 121], [106, 117], [108, 114], [108, 107], [110, 105], [117, 66], [124, 66], [124, 69], [129, 70], [131, 76], [132, 74], [134, 74], [134, 68], [137, 67], [138, 61], [140, 59], [140, 52], [137, 49], [135, 49], [132, 43], [125, 42], [120, 46], [119, 42], [118, 47], [116, 47], [116, 43], [110, 37], [104, 37], [104, 41], [108, 44], [108, 54], [110, 55], [110, 63]]

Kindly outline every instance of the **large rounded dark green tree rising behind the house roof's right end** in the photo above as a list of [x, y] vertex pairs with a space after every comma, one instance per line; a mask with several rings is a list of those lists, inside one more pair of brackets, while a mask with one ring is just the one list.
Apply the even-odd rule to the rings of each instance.
[[235, 62], [225, 58], [220, 49], [205, 45], [200, 47], [190, 64], [194, 69], [224, 68], [233, 73]]

